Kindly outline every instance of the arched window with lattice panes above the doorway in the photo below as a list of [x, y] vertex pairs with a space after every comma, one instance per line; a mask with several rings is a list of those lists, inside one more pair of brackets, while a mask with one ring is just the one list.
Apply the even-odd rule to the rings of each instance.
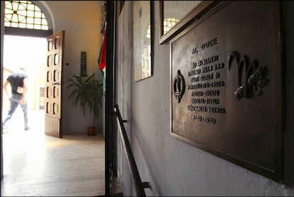
[[4, 26], [48, 30], [45, 14], [31, 1], [5, 1]]

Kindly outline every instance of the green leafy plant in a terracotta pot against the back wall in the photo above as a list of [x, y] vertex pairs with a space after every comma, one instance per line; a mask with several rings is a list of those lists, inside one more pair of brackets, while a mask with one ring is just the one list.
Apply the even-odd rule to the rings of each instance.
[[84, 116], [86, 109], [93, 115], [92, 125], [87, 127], [88, 135], [96, 134], [95, 121], [97, 119], [99, 108], [102, 101], [102, 80], [97, 80], [95, 74], [91, 76], [81, 77], [72, 75], [67, 88], [70, 88], [69, 100], [72, 100], [72, 106], [77, 107], [80, 105]]

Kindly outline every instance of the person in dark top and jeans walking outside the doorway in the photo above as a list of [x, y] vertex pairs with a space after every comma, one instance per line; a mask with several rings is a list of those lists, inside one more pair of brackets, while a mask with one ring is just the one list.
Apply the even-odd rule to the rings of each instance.
[[[11, 85], [11, 95], [9, 96], [9, 92], [7, 91], [7, 85]], [[28, 127], [28, 104], [26, 101], [26, 96], [28, 92], [28, 75], [26, 75], [26, 70], [24, 68], [20, 68], [17, 73], [12, 73], [4, 82], [4, 92], [9, 97], [10, 101], [10, 109], [6, 119], [3, 122], [3, 130], [6, 132], [7, 122], [11, 119], [13, 113], [16, 110], [18, 105], [21, 105], [21, 109], [23, 110], [24, 117], [24, 130], [27, 131], [30, 129]]]

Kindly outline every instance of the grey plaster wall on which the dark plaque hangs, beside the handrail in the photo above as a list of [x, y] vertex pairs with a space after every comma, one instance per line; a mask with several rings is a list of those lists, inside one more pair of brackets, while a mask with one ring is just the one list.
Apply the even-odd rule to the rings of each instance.
[[[293, 3], [287, 6], [288, 19], [285, 17], [283, 21], [290, 24]], [[141, 179], [151, 185], [151, 189], [145, 189], [148, 196], [293, 196], [293, 123], [289, 122], [293, 118], [293, 108], [288, 109], [293, 107], [293, 93], [286, 93], [286, 183], [277, 183], [182, 142], [170, 136], [170, 46], [169, 43], [159, 45], [159, 2], [154, 1], [153, 76], [139, 82], [134, 82], [131, 68], [133, 20], [130, 13], [131, 2], [126, 1], [118, 20], [124, 24], [118, 26], [118, 34], [124, 36], [118, 39], [117, 102], [122, 118], [129, 121], [125, 124], [126, 130]], [[290, 55], [293, 53], [293, 38], [290, 38], [293, 28], [285, 31]], [[286, 72], [293, 71], [292, 65], [293, 58], [288, 58]], [[288, 76], [286, 83], [287, 90], [293, 90], [291, 77]], [[135, 196], [129, 176], [124, 176], [129, 166], [120, 142], [117, 147], [118, 174], [124, 196]]]

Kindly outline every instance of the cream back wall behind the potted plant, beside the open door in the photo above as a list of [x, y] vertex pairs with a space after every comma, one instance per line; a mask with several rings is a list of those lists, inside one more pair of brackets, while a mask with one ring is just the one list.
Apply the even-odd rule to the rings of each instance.
[[[101, 78], [97, 58], [102, 45], [103, 1], [45, 1], [53, 17], [53, 33], [65, 30], [63, 82], [74, 74], [80, 75], [80, 53], [87, 53], [87, 74], [95, 73]], [[82, 114], [80, 108], [72, 107], [67, 100], [69, 92], [62, 86], [62, 130], [63, 134], [86, 133], [92, 115]], [[97, 119], [97, 132], [102, 132], [102, 112]]]

